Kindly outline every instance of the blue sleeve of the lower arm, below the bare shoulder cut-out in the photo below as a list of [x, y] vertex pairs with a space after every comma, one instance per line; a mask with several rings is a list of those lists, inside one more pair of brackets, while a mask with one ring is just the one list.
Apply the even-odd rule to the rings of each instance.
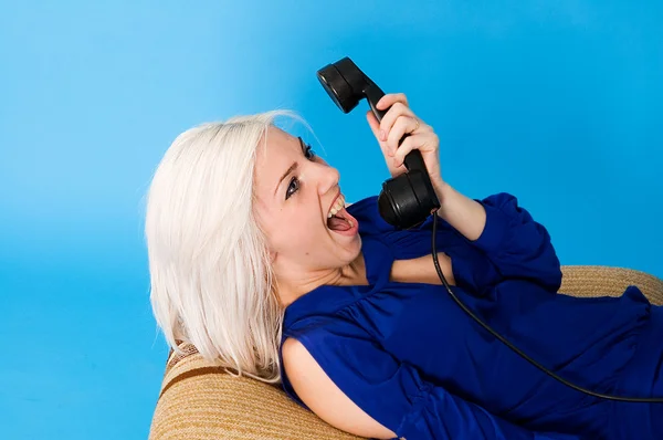
[[360, 329], [315, 328], [294, 335], [336, 386], [398, 438], [438, 440], [578, 440], [534, 432], [493, 416], [418, 370], [398, 363]]

